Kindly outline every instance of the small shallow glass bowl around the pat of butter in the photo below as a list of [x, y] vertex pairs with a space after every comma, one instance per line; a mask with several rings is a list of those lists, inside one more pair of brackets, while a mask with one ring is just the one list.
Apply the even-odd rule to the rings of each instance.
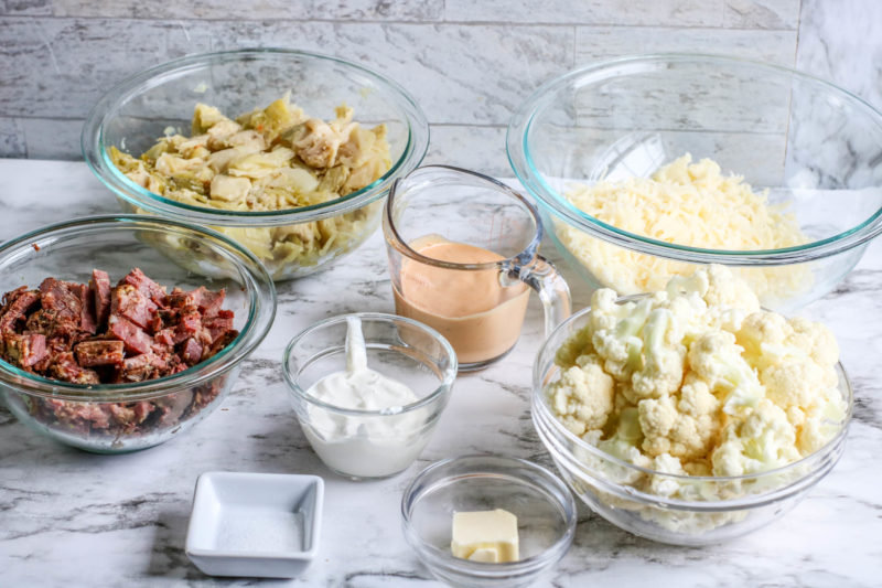
[[[453, 513], [503, 509], [517, 516], [520, 560], [484, 564], [451, 553]], [[559, 562], [576, 535], [576, 502], [553, 473], [523, 459], [463, 456], [439, 461], [405, 490], [405, 538], [451, 586], [529, 586]]]

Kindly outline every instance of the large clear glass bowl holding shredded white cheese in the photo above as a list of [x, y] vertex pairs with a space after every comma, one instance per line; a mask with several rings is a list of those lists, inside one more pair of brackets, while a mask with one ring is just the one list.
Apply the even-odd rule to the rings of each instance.
[[[541, 203], [558, 249], [592, 287], [663, 289], [696, 264], [740, 268], [764, 306], [802, 307], [832, 290], [882, 232], [882, 113], [827, 82], [712, 55], [646, 55], [591, 65], [536, 90], [508, 127], [510, 164]], [[616, 228], [566, 197], [572, 183], [648, 177], [691, 153], [789, 203], [808, 243], [768, 250], [689, 247]], [[653, 268], [649, 287], [621, 264]], [[619, 267], [616, 267], [619, 266]]]

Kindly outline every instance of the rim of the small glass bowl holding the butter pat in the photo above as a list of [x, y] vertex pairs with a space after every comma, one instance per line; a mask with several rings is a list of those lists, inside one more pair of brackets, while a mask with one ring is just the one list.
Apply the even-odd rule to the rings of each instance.
[[[488, 461], [492, 461], [493, 463], [488, 464]], [[562, 515], [561, 517], [563, 518], [563, 524], [566, 527], [564, 532], [557, 537], [555, 543], [544, 552], [524, 559], [518, 559], [517, 562], [507, 562], [502, 564], [487, 564], [482, 562], [472, 562], [470, 559], [462, 559], [433, 545], [427, 544], [424, 541], [422, 541], [422, 537], [420, 537], [420, 535], [411, 525], [411, 513], [413, 511], [413, 506], [417, 504], [417, 502], [419, 502], [421, 496], [431, 492], [440, 482], [435, 482], [428, 488], [419, 488], [420, 482], [439, 470], [444, 470], [453, 464], [462, 462], [471, 462], [473, 471], [470, 473], [458, 474], [455, 479], [467, 479], [473, 475], [478, 475], [483, 472], [483, 470], [487, 470], [488, 472], [493, 473], [493, 475], [501, 475], [493, 472], [493, 470], [502, 468], [525, 468], [536, 473], [541, 480], [542, 492], [545, 492], [549, 498], [556, 499], [555, 506], [558, 507], [560, 514]], [[515, 474], [508, 474], [508, 477], [517, 478]], [[444, 478], [444, 480], [450, 479], [451, 475], [445, 475]], [[530, 485], [536, 485], [533, 481], [529, 483]], [[560, 500], [557, 500], [555, 494], [563, 496], [564, 501], [561, 502]], [[471, 576], [481, 578], [527, 576], [541, 570], [550, 564], [553, 564], [563, 557], [563, 555], [569, 550], [570, 545], [576, 537], [577, 523], [578, 511], [576, 507], [576, 500], [573, 499], [570, 489], [558, 475], [556, 475], [548, 468], [545, 468], [544, 466], [533, 461], [504, 455], [473, 453], [442, 459], [428, 466], [426, 469], [415, 475], [401, 494], [401, 525], [405, 531], [405, 537], [408, 539], [408, 543], [410, 543], [411, 547], [417, 550], [420, 559], [423, 559], [424, 562], [424, 559], [428, 557], [431, 559], [432, 564], [444, 566], [445, 570], [454, 569], [458, 574], [469, 574]]]

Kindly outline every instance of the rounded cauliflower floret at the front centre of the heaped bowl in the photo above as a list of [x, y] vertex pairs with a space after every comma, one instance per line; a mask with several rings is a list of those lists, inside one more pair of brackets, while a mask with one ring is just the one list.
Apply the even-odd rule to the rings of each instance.
[[669, 453], [685, 461], [703, 458], [720, 428], [720, 402], [693, 373], [678, 396], [641, 400], [642, 448], [649, 456]]

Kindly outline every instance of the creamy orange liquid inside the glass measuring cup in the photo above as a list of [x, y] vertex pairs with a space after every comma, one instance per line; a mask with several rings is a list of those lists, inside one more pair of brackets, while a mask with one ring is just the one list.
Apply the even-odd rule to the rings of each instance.
[[[455, 264], [504, 259], [487, 249], [422, 237], [410, 247], [426, 257]], [[459, 270], [406, 259], [400, 291], [394, 288], [395, 310], [423, 322], [453, 345], [461, 364], [498, 357], [514, 346], [529, 301], [525, 284], [503, 287], [498, 270]]]

